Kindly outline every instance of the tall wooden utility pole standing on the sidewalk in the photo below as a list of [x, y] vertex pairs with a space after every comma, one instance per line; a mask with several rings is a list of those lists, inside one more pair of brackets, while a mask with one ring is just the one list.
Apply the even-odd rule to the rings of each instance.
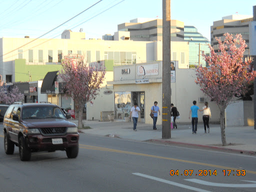
[[170, 0], [162, 0], [162, 138], [170, 138]]

